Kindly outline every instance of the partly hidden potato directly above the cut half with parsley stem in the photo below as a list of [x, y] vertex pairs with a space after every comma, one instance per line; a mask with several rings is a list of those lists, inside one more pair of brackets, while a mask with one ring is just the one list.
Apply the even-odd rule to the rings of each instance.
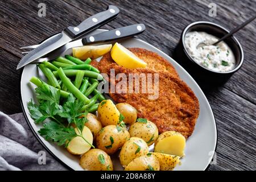
[[87, 126], [90, 129], [90, 131], [92, 131], [93, 138], [95, 139], [97, 133], [102, 129], [101, 122], [98, 121], [96, 115], [91, 113], [88, 113], [86, 115], [86, 119], [88, 119], [88, 121], [84, 125]]

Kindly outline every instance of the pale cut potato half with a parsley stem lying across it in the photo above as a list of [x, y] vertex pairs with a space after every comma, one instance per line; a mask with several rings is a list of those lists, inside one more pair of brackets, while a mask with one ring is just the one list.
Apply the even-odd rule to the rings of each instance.
[[[75, 131], [78, 135], [81, 134], [79, 129], [75, 128]], [[84, 126], [84, 130], [82, 130], [82, 137], [84, 137], [90, 144], [93, 143], [92, 132], [86, 126]], [[67, 150], [71, 154], [81, 155], [90, 150], [91, 146], [85, 142], [82, 137], [75, 137], [69, 142]]]

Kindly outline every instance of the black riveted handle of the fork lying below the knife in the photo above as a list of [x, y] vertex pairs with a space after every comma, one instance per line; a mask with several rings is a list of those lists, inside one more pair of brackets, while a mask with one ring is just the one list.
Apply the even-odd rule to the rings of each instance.
[[133, 24], [126, 27], [115, 28], [100, 34], [87, 36], [86, 38], [82, 39], [82, 44], [86, 45], [91, 43], [108, 42], [116, 39], [128, 38], [141, 34], [145, 29], [146, 27], [144, 24]]

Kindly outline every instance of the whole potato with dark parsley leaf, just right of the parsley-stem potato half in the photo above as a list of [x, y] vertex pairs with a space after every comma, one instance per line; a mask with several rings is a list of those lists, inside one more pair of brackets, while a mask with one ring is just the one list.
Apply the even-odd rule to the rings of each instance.
[[126, 127], [122, 128], [117, 125], [108, 125], [98, 132], [96, 136], [96, 146], [111, 155], [122, 147], [129, 138], [130, 134], [126, 130]]

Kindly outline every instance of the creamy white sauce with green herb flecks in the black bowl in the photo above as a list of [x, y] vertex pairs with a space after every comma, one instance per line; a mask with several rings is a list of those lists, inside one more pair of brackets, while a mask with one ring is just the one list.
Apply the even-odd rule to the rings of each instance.
[[236, 60], [234, 53], [225, 42], [222, 41], [217, 46], [197, 47], [200, 43], [209, 45], [217, 41], [216, 36], [206, 32], [193, 31], [185, 35], [185, 47], [196, 63], [213, 71], [230, 71], [235, 67]]

